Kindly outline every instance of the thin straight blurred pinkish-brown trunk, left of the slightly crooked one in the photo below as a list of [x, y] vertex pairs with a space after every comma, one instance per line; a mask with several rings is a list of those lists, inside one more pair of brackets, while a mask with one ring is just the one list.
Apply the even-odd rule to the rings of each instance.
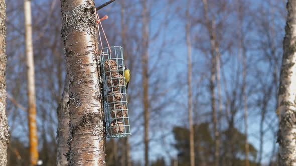
[[[187, 1], [186, 17], [189, 19], [190, 0]], [[190, 40], [190, 20], [186, 22], [186, 44], [187, 44], [187, 60], [188, 60], [188, 121], [189, 121], [189, 142], [190, 142], [190, 165], [195, 166], [194, 154], [194, 129], [192, 120], [192, 89], [191, 89], [191, 76], [192, 76], [192, 63], [191, 63], [191, 40]]]

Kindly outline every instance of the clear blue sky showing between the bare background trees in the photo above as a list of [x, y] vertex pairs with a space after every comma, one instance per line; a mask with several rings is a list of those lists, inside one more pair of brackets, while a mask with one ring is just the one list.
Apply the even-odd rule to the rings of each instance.
[[[34, 2], [43, 2], [42, 0], [38, 1], [38, 0], [33, 0]], [[96, 5], [99, 5], [105, 1], [103, 0], [95, 0]], [[253, 8], [253, 9], [262, 9], [264, 11], [266, 11], [267, 14], [270, 14], [270, 17], [274, 17], [274, 21], [273, 23], [278, 25], [280, 28], [279, 31], [276, 31], [276, 36], [275, 36], [275, 42], [276, 44], [281, 44], [281, 40], [283, 37], [283, 27], [284, 27], [284, 19], [282, 17], [282, 15], [280, 15], [279, 12], [277, 12], [277, 8], [275, 7], [270, 7], [270, 6], [279, 6], [280, 8], [282, 8], [282, 6], [284, 6], [284, 2], [278, 3], [277, 0], [263, 0], [260, 2], [257, 2], [256, 0], [249, 0], [247, 1], [249, 2], [249, 8]], [[267, 2], [270, 2], [271, 4], [268, 4]], [[150, 42], [150, 68], [151, 70], [154, 70], [154, 64], [158, 64], [157, 66], [165, 66], [165, 67], [161, 67], [161, 69], [158, 70], [158, 72], [153, 73], [153, 76], [151, 77], [150, 83], [153, 84], [154, 81], [156, 80], [156, 78], [158, 77], [163, 77], [163, 79], [166, 80], [166, 83], [163, 84], [162, 89], [160, 91], [165, 91], [168, 90], [168, 92], [165, 94], [164, 97], [160, 97], [158, 99], [155, 100], [160, 100], [159, 103], [156, 102], [156, 104], [161, 104], [163, 100], [166, 99], [166, 97], [171, 97], [176, 95], [176, 93], [178, 92], [179, 95], [177, 96], [178, 98], [180, 98], [178, 101], [173, 101], [172, 100], [172, 104], [168, 105], [167, 107], [165, 107], [160, 113], [159, 116], [163, 116], [164, 118], [160, 118], [160, 119], [152, 119], [151, 120], [151, 132], [150, 132], [150, 137], [156, 137], [157, 140], [152, 140], [152, 142], [150, 143], [150, 147], [151, 147], [151, 151], [150, 151], [150, 158], [151, 160], [156, 159], [159, 156], [166, 156], [168, 157], [169, 155], [171, 156], [176, 156], [176, 150], [171, 146], [171, 144], [174, 142], [174, 137], [172, 135], [172, 128], [175, 125], [178, 126], [188, 126], [188, 122], [187, 122], [187, 86], [184, 85], [184, 83], [186, 83], [187, 81], [187, 48], [186, 48], [186, 43], [185, 43], [185, 19], [181, 19], [180, 16], [178, 16], [178, 14], [176, 14], [175, 12], [175, 8], [179, 5], [179, 7], [181, 7], [181, 9], [184, 9], [184, 4], [174, 4], [174, 5], [166, 5], [166, 3], [164, 1], [153, 1], [153, 0], [149, 0], [150, 5], [153, 4], [152, 7], [152, 14], [151, 14], [151, 22], [150, 22], [150, 33], [151, 36], [153, 36], [156, 32], [158, 32], [159, 27], [162, 27], [162, 30], [160, 31], [159, 35], [156, 37], [155, 40], [152, 40]], [[138, 0], [135, 1], [133, 3], [134, 8], [137, 8], [137, 6], [139, 6], [138, 4]], [[120, 28], [120, 17], [118, 16], [120, 13], [120, 5], [119, 5], [119, 0], [113, 2], [112, 4], [110, 4], [109, 6], [107, 6], [106, 8], [102, 9], [100, 12], [100, 15], [103, 14], [107, 14], [109, 15], [109, 19], [104, 20], [104, 24], [108, 24], [111, 22], [116, 22], [116, 27], [114, 28]], [[112, 9], [115, 9], [115, 11], [118, 12], [113, 12]], [[193, 12], [194, 9], [196, 9], [197, 11], [195, 11], [196, 13], [194, 14], [199, 14], [203, 8], [200, 8], [200, 6], [192, 6], [192, 10], [191, 12]], [[135, 15], [140, 15], [140, 9], [135, 10]], [[126, 15], [129, 16], [129, 15]], [[168, 18], [168, 23], [165, 24], [164, 20]], [[253, 18], [253, 17], [252, 17]], [[229, 20], [231, 22], [231, 17], [229, 17]], [[33, 20], [34, 23], [35, 20]], [[39, 20], [40, 21], [40, 20]], [[137, 21], [139, 21], [137, 23]], [[131, 24], [136, 24], [136, 29], [135, 32], [139, 32], [140, 33], [140, 27], [141, 27], [141, 19], [137, 20], [136, 18], [131, 20]], [[258, 20], [250, 20], [253, 24], [253, 26], [251, 26], [250, 28], [254, 28], [254, 25], [258, 25]], [[16, 19], [13, 21], [14, 23], [18, 24], [18, 26], [22, 26], [22, 23], [19, 22], [19, 19]], [[243, 25], [244, 27], [247, 27], [248, 24]], [[106, 30], [106, 34], [107, 36], [112, 36], [113, 34], [110, 34], [112, 31], [105, 29]], [[138, 31], [137, 31], [138, 30]], [[253, 29], [248, 29], [250, 32], [248, 34], [249, 38], [256, 38], [256, 39], [260, 39], [263, 38], [264, 35], [262, 33], [259, 33], [256, 30]], [[226, 30], [225, 32], [225, 36], [227, 35], [233, 35], [235, 33], [235, 27], [229, 28]], [[10, 33], [12, 35], [12, 33]], [[208, 46], [209, 42], [206, 41], [207, 39], [207, 31], [204, 29], [204, 27], [197, 25], [195, 27], [192, 28], [191, 31], [192, 34], [192, 39], [194, 39], [195, 36], [199, 36], [200, 38], [204, 37], [205, 41], [204, 42], [200, 42], [200, 40], [195, 41], [193, 40], [193, 45], [202, 45], [202, 46]], [[18, 34], [15, 34], [18, 35]], [[12, 36], [9, 36], [12, 37]], [[22, 38], [22, 37], [20, 37]], [[121, 40], [120, 40], [120, 36], [115, 36], [116, 40], [115, 43], [110, 43], [110, 45], [121, 45]], [[163, 44], [166, 41], [165, 44]], [[254, 42], [254, 41], [251, 41]], [[140, 43], [137, 43], [140, 44]], [[223, 45], [224, 43], [222, 43]], [[257, 43], [254, 43], [252, 45], [256, 46]], [[196, 101], [198, 101], [199, 103], [207, 103], [207, 105], [199, 105], [199, 109], [195, 108], [194, 111], [198, 111], [198, 115], [203, 114], [205, 112], [209, 112], [210, 111], [210, 105], [208, 104], [209, 101], [209, 93], [207, 90], [207, 83], [208, 83], [208, 67], [209, 67], [209, 61], [207, 59], [207, 56], [209, 56], [209, 51], [207, 53], [202, 52], [200, 49], [195, 48], [194, 46], [192, 47], [193, 51], [192, 51], [192, 59], [193, 59], [193, 93], [194, 96], [197, 95], [198, 96], [195, 98]], [[161, 56], [158, 56], [160, 51], [164, 51], [164, 53]], [[235, 70], [237, 68], [239, 68], [239, 63], [238, 63], [238, 57], [236, 56], [237, 53], [237, 49], [233, 49], [233, 52], [230, 51], [226, 51], [223, 53], [222, 55], [222, 61], [226, 61], [225, 65], [224, 65], [224, 71], [225, 71], [225, 78], [226, 78], [226, 85], [228, 86], [228, 88], [231, 88], [232, 83], [231, 83], [231, 79], [233, 78], [234, 74], [235, 74]], [[140, 53], [140, 50], [139, 52]], [[281, 53], [279, 51], [279, 53]], [[259, 61], [259, 59], [262, 57], [262, 54], [264, 54], [264, 52], [262, 50], [256, 49], [256, 48], [250, 48], [250, 50], [248, 50], [247, 56], [248, 59], [252, 62], [256, 62]], [[230, 57], [230, 58], [229, 58]], [[160, 60], [160, 58], [163, 60], [163, 62], [158, 63], [158, 60]], [[227, 61], [229, 60], [229, 61]], [[9, 61], [10, 62], [10, 61]], [[256, 65], [256, 66], [255, 66]], [[259, 68], [260, 70], [262, 70], [262, 77], [266, 78], [267, 81], [270, 81], [270, 73], [268, 73], [268, 70], [270, 68], [270, 66], [268, 66], [266, 64], [266, 62], [256, 62], [254, 66], [250, 66], [250, 72], [255, 72], [254, 70], [252, 70], [253, 68]], [[237, 67], [237, 68], [235, 68]], [[21, 68], [21, 67], [19, 67]], [[18, 70], [18, 68], [17, 68]], [[132, 72], [136, 72], [136, 71], [132, 71]], [[205, 75], [203, 75], [205, 74]], [[253, 73], [250, 73], [250, 76], [248, 77], [249, 81], [257, 81], [256, 77], [253, 75]], [[131, 80], [134, 81], [134, 83], [131, 84], [132, 85], [138, 85], [140, 84], [141, 78], [137, 77], [137, 80]], [[182, 83], [181, 83], [182, 82]], [[8, 84], [8, 86], [10, 86]], [[152, 85], [153, 86], [153, 85]], [[224, 88], [225, 84], [222, 82], [222, 91], [225, 90]], [[252, 88], [252, 87], [249, 87]], [[153, 94], [153, 88], [151, 88], [150, 94]], [[223, 92], [222, 92], [223, 93]], [[225, 94], [223, 93], [223, 98], [225, 98]], [[257, 98], [261, 97], [260, 95], [252, 95], [249, 97], [249, 102], [253, 103], [253, 101]], [[138, 113], [142, 112], [142, 108], [141, 108], [141, 103], [140, 103], [141, 98], [138, 98], [138, 101], [133, 101], [132, 105], [130, 108], [132, 108], [133, 113], [130, 113], [130, 118], [134, 120], [135, 117], [137, 117]], [[24, 102], [24, 101], [22, 101]], [[26, 101], [25, 101], [26, 102]], [[135, 103], [138, 102], [138, 103]], [[274, 105], [275, 105], [275, 96], [270, 100], [270, 103], [268, 104], [268, 112], [273, 112], [274, 109]], [[51, 106], [55, 106], [55, 105], [48, 105], [48, 107]], [[203, 111], [200, 111], [203, 110]], [[172, 113], [174, 112], [174, 113]], [[248, 128], [248, 132], [249, 132], [249, 141], [258, 149], [259, 147], [259, 139], [258, 139], [258, 131], [259, 131], [259, 122], [260, 122], [260, 117], [258, 115], [258, 113], [260, 112], [259, 107], [250, 107], [249, 108], [249, 119], [248, 119], [248, 123], [249, 123], [249, 128]], [[22, 118], [26, 118], [26, 113], [20, 111], [21, 113], [21, 117]], [[53, 109], [52, 114], [55, 114], [55, 110]], [[205, 119], [200, 119], [198, 118], [199, 116], [197, 116], [197, 118], [195, 119], [197, 122], [201, 122], [203, 120], [210, 120], [210, 117], [207, 116], [205, 117]], [[277, 119], [275, 118], [276, 116], [274, 116], [275, 114], [273, 113], [268, 113], [268, 118], [270, 118], [270, 121], [274, 121], [274, 125], [276, 126], [277, 124]], [[269, 117], [270, 116], [270, 117]], [[236, 127], [238, 129], [240, 129], [241, 131], [243, 131], [243, 121], [241, 119], [242, 117], [242, 111], [240, 110], [239, 113], [236, 116]], [[24, 124], [21, 124], [20, 126], [17, 126], [17, 128], [15, 129], [13, 135], [20, 137], [24, 140], [24, 142], [26, 142], [27, 138], [22, 136], [24, 134], [24, 127], [23, 125], [27, 124], [26, 121], [24, 119], [18, 119], [20, 121], [22, 121]], [[142, 120], [142, 117], [140, 117], [140, 120]], [[155, 124], [154, 120], [157, 120], [158, 122]], [[269, 121], [268, 120], [268, 121]], [[42, 124], [42, 121], [39, 121], [39, 124]], [[10, 124], [12, 124], [10, 122]], [[134, 123], [134, 124], [141, 124], [139, 122]], [[165, 126], [163, 126], [165, 125]], [[167, 125], [167, 127], [166, 127]], [[267, 125], [269, 124], [264, 124], [264, 128], [267, 128]], [[157, 129], [158, 126], [162, 126], [163, 128], [161, 129]], [[56, 127], [56, 126], [54, 126]], [[224, 126], [225, 127], [225, 126]], [[165, 130], [164, 130], [165, 128]], [[137, 142], [141, 141], [143, 139], [143, 130], [142, 130], [142, 126], [131, 126], [131, 131], [136, 133], [133, 134], [132, 136], [130, 136], [130, 144], [134, 145], [137, 144]], [[165, 137], [164, 137], [165, 136]], [[159, 139], [159, 138], [164, 138], [164, 139]], [[263, 162], [266, 162], [269, 160], [268, 154], [271, 150], [271, 145], [272, 142], [275, 140], [275, 135], [271, 132], [268, 131], [266, 133], [266, 135], [264, 136], [264, 153], [263, 153]], [[152, 148], [153, 147], [153, 148]], [[266, 155], [265, 155], [266, 154]], [[136, 147], [132, 147], [132, 158], [135, 160], [143, 160], [143, 145], [140, 144]], [[167, 158], [168, 159], [168, 158]]]

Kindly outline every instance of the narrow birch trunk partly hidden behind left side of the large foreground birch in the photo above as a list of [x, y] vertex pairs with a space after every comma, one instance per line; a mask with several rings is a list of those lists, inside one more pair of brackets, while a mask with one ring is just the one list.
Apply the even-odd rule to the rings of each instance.
[[67, 140], [69, 137], [69, 77], [66, 73], [64, 91], [59, 102], [57, 113], [58, 113], [58, 150], [57, 150], [57, 166], [68, 165], [67, 158], [64, 154], [68, 152]]

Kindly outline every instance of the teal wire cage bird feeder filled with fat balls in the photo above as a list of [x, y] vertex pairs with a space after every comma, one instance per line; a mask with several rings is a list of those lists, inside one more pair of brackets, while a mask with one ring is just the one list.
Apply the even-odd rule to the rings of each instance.
[[104, 110], [108, 138], [131, 135], [121, 46], [105, 47], [101, 53]]

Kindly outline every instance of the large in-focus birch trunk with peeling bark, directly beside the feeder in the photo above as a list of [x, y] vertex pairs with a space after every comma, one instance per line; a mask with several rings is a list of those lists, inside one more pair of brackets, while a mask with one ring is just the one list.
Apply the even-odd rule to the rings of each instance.
[[69, 76], [69, 165], [105, 165], [105, 122], [93, 0], [61, 0]]

